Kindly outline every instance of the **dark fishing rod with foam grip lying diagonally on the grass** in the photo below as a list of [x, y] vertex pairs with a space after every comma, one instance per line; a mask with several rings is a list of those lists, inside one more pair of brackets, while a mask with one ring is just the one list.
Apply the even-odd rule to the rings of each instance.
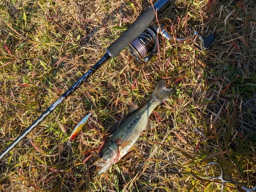
[[22, 141], [32, 130], [44, 121], [67, 97], [76, 91], [81, 84], [94, 74], [106, 61], [115, 58], [131, 42], [136, 39], [152, 23], [157, 13], [164, 12], [173, 4], [173, 0], [158, 0], [151, 8], [144, 11], [135, 22], [127, 28], [122, 35], [111, 44], [103, 57], [80, 79], [78, 79], [71, 88], [63, 93], [49, 108], [42, 113], [27, 129], [20, 134], [6, 149], [0, 154], [0, 160], [3, 159], [20, 141]]

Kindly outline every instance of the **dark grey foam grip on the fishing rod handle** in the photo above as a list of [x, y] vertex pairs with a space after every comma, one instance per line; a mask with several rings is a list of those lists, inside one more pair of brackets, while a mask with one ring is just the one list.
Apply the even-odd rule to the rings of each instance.
[[136, 37], [138, 37], [155, 18], [153, 9], [147, 9], [143, 12], [135, 22], [108, 47], [108, 52], [112, 57], [116, 57], [127, 45], [129, 45]]

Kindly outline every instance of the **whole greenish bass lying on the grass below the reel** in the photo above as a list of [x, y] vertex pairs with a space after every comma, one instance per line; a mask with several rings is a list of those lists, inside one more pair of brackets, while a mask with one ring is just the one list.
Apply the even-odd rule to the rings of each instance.
[[112, 135], [106, 138], [93, 163], [93, 165], [98, 166], [98, 175], [104, 173], [136, 147], [135, 143], [141, 133], [150, 124], [148, 122], [151, 113], [156, 106], [170, 97], [172, 91], [172, 89], [165, 87], [164, 80], [160, 80], [150, 99], [140, 109], [135, 108], [135, 111], [119, 124]]

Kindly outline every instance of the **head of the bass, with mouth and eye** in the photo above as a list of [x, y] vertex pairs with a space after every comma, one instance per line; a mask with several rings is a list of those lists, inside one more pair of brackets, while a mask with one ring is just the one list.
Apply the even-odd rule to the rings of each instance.
[[119, 148], [116, 142], [110, 141], [99, 152], [93, 165], [97, 165], [98, 175], [108, 170], [119, 157]]

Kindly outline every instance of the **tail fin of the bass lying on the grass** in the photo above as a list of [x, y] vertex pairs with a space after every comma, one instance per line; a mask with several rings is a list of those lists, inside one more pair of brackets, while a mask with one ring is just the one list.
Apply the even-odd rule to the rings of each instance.
[[172, 89], [167, 89], [165, 87], [164, 80], [162, 79], [157, 83], [151, 97], [157, 98], [159, 104], [161, 104], [163, 101], [167, 100], [170, 95], [172, 95]]

